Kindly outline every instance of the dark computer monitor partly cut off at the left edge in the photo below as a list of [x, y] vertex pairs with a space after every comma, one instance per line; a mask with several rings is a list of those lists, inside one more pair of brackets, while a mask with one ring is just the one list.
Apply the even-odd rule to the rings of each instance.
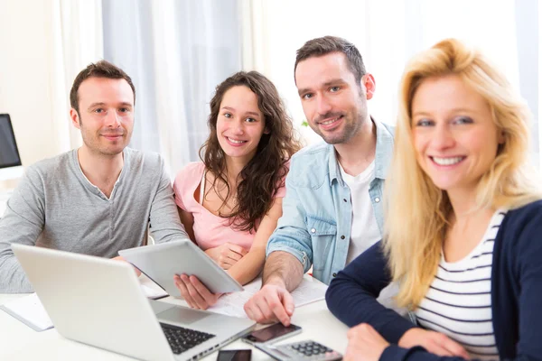
[[9, 114], [0, 114], [0, 180], [13, 180], [23, 175], [23, 165], [15, 142]]

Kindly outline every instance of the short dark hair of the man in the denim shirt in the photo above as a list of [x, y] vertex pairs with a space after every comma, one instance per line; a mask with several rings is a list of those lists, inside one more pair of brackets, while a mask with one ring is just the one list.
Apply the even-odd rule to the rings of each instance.
[[349, 68], [352, 74], [354, 74], [356, 81], [359, 83], [361, 77], [367, 73], [360, 51], [358, 51], [358, 48], [351, 42], [337, 36], [324, 36], [305, 42], [304, 46], [299, 48], [297, 56], [295, 57], [294, 79], [295, 69], [297, 69], [297, 64], [299, 64], [300, 61], [312, 57], [320, 57], [335, 51], [340, 51], [346, 56]]

